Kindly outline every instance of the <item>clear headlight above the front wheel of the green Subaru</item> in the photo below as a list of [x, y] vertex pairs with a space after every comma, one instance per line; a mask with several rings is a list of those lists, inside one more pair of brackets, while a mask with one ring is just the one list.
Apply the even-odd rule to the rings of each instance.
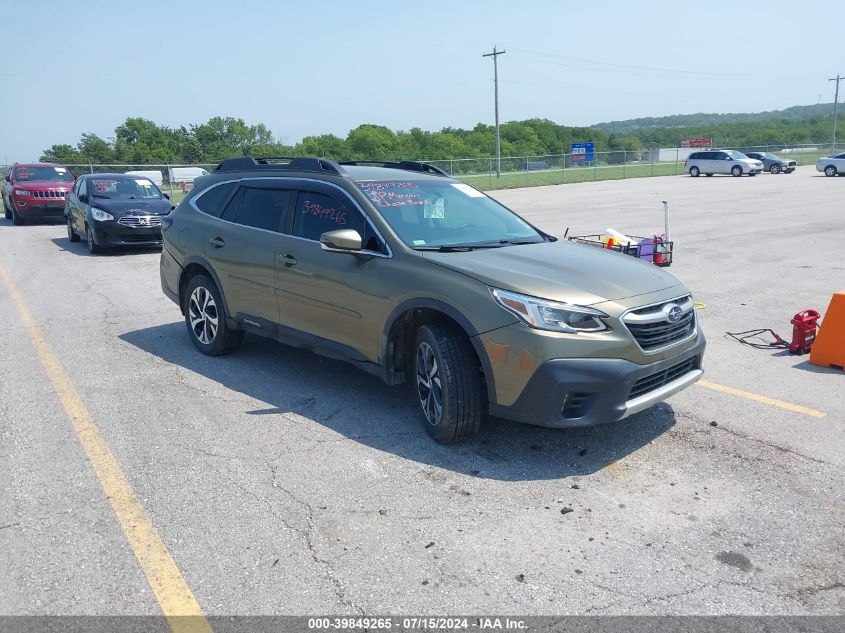
[[493, 296], [505, 310], [538, 330], [577, 334], [607, 329], [601, 321], [602, 318], [607, 318], [607, 315], [592, 308], [547, 301], [498, 288], [493, 288]]

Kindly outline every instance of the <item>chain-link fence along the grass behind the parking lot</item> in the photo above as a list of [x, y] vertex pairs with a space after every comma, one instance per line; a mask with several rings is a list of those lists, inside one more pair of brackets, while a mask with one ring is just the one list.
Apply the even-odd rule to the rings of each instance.
[[[578, 160], [583, 155], [548, 154], [544, 156], [434, 159], [430, 162], [455, 178], [482, 190], [510, 189], [540, 185], [559, 185], [593, 180], [620, 180], [649, 176], [671, 176], [686, 173], [684, 162], [695, 151], [709, 148], [652, 148], [637, 151], [596, 152], [594, 160]], [[724, 147], [741, 152], [771, 152], [782, 158], [795, 160], [798, 165], [814, 165], [822, 156], [834, 153], [831, 143], [805, 145], [746, 145]], [[497, 175], [497, 162], [499, 175]], [[105, 164], [93, 163], [65, 165], [74, 176], [98, 173], [151, 172], [145, 174], [169, 192], [171, 200], [179, 201], [190, 189], [193, 178], [180, 170], [200, 168], [208, 172], [216, 164]], [[0, 165], [0, 173], [8, 173], [9, 165]], [[160, 177], [154, 172], [158, 172]]]

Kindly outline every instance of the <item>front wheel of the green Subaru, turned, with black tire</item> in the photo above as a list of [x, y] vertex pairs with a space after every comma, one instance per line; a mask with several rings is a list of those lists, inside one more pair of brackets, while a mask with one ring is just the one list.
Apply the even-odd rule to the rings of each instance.
[[451, 444], [478, 433], [485, 412], [484, 389], [467, 335], [448, 324], [420, 326], [413, 363], [414, 393], [428, 434]]

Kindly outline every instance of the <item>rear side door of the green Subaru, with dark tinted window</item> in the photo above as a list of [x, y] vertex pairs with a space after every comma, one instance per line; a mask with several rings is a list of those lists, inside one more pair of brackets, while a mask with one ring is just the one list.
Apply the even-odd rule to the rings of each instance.
[[205, 256], [223, 287], [230, 316], [268, 333], [279, 320], [275, 254], [295, 197], [273, 180], [243, 181], [206, 230]]

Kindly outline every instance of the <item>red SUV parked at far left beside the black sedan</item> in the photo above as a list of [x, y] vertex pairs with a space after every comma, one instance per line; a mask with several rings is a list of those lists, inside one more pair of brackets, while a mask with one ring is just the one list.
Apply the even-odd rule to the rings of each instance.
[[25, 224], [29, 218], [64, 219], [65, 196], [74, 177], [53, 163], [15, 163], [3, 183], [6, 219]]

